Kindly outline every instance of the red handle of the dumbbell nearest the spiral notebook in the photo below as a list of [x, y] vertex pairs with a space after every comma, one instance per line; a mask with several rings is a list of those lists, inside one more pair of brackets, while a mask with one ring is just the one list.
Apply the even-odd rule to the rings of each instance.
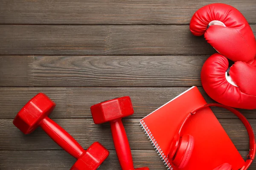
[[111, 122], [111, 132], [122, 170], [134, 170], [130, 145], [121, 119]]

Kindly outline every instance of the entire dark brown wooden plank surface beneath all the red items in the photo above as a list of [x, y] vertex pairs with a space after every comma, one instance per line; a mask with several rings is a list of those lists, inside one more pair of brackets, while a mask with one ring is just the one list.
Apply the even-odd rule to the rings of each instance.
[[[238, 8], [256, 34], [255, 0], [0, 0], [0, 169], [74, 164], [41, 128], [25, 136], [12, 124], [43, 92], [57, 104], [50, 117], [84, 148], [99, 141], [110, 150], [100, 170], [120, 166], [110, 126], [94, 125], [90, 106], [131, 96], [135, 113], [123, 122], [134, 165], [165, 170], [138, 122], [192, 85], [212, 102], [200, 71], [215, 50], [189, 31], [192, 14], [211, 2]], [[246, 158], [248, 136], [239, 119], [213, 110]], [[256, 130], [256, 112], [241, 111]]]

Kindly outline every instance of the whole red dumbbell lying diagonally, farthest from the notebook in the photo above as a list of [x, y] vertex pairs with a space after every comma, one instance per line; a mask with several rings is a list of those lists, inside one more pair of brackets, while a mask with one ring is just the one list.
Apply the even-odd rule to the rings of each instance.
[[25, 134], [41, 126], [60, 147], [77, 159], [70, 170], [96, 170], [108, 157], [108, 150], [99, 142], [94, 142], [84, 150], [67, 131], [48, 117], [54, 108], [55, 103], [45, 94], [39, 93], [17, 113], [13, 124]]

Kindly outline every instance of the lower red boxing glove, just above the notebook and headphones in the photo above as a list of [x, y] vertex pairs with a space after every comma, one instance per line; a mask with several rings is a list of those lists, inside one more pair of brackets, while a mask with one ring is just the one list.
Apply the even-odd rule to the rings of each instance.
[[201, 71], [204, 90], [223, 105], [255, 109], [256, 68], [241, 61], [232, 65], [230, 70], [228, 68], [228, 60], [223, 55], [216, 53], [209, 57]]

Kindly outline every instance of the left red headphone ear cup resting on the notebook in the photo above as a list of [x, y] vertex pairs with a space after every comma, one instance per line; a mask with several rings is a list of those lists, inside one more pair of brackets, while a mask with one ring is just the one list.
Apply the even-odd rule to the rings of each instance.
[[172, 163], [177, 168], [186, 167], [191, 158], [192, 151], [194, 149], [195, 139], [192, 135], [186, 134], [183, 135], [180, 139], [178, 149], [175, 153]]

